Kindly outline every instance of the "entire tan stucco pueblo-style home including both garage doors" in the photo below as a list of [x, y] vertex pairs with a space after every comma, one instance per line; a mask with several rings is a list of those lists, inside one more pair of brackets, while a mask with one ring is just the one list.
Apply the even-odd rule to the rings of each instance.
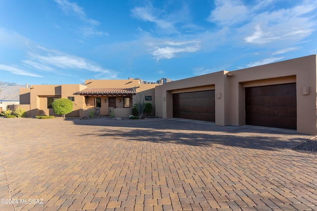
[[20, 89], [20, 106], [29, 116], [54, 115], [51, 103], [68, 98], [68, 116], [114, 110], [128, 117], [138, 97], [153, 105], [151, 115], [214, 122], [218, 126], [265, 126], [317, 135], [317, 55], [219, 71], [169, 83], [140, 80], [86, 80], [85, 85], [31, 85]]

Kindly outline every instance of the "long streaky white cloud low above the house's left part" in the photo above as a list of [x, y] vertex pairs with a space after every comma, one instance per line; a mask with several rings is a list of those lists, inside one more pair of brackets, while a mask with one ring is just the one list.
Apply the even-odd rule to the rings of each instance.
[[22, 62], [39, 71], [83, 70], [95, 72], [97, 78], [116, 78], [115, 71], [103, 68], [89, 59], [42, 46], [37, 46], [37, 51], [28, 52], [27, 59]]

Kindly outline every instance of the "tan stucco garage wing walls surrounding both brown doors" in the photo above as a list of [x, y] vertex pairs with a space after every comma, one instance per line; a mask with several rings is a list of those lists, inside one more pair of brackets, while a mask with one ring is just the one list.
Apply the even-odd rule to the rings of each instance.
[[[310, 55], [169, 82], [156, 87], [157, 113], [162, 118], [173, 117], [173, 93], [215, 89], [215, 125], [243, 126], [245, 125], [245, 87], [296, 82], [297, 132], [317, 134], [316, 70], [317, 57]], [[309, 94], [305, 93], [308, 87]]]

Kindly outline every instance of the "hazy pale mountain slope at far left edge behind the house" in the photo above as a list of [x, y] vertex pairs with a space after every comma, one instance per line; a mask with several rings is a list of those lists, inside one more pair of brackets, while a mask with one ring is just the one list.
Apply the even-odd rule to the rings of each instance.
[[22, 87], [26, 87], [26, 85], [16, 84], [16, 83], [7, 83], [0, 82], [0, 100], [12, 100], [19, 101], [19, 90]]

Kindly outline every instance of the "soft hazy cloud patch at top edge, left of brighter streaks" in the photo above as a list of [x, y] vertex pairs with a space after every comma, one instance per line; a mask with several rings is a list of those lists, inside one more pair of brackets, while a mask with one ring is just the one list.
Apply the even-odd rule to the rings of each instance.
[[237, 0], [216, 0], [216, 7], [207, 18], [210, 22], [232, 25], [248, 18], [248, 8]]

